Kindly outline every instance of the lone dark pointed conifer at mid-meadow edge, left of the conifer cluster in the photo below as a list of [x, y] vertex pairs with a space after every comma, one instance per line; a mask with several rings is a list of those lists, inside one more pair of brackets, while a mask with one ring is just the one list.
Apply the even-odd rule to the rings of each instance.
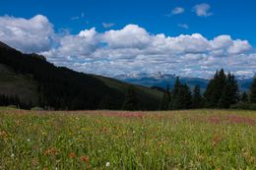
[[138, 110], [138, 102], [135, 94], [134, 87], [130, 85], [125, 95], [125, 101], [123, 104], [124, 110]]

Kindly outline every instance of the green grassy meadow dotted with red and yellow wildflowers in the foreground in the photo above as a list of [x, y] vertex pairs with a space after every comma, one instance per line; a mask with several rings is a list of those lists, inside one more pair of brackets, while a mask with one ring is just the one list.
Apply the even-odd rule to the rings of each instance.
[[256, 112], [1, 108], [0, 150], [0, 169], [256, 169]]

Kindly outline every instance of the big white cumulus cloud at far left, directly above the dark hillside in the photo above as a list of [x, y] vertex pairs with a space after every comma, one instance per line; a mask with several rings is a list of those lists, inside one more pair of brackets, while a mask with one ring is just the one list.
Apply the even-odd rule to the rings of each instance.
[[53, 33], [53, 26], [42, 15], [32, 19], [0, 17], [0, 40], [24, 52], [48, 50]]

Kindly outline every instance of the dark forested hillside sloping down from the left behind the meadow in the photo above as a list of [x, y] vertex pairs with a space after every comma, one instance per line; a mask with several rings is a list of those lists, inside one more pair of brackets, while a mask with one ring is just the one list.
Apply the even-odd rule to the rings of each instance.
[[[56, 67], [43, 56], [23, 54], [3, 43], [0, 43], [0, 64], [4, 68], [0, 70], [0, 85], [5, 86], [0, 88], [0, 94], [17, 94], [23, 102], [32, 100], [34, 106], [58, 110], [121, 109], [129, 85]], [[9, 77], [4, 74], [7, 70]], [[135, 92], [140, 109], [158, 109], [161, 97], [158, 90], [135, 85]]]

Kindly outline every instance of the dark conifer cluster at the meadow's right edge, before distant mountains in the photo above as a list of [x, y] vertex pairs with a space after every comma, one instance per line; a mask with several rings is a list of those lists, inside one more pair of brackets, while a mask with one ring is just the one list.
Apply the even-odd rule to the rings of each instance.
[[256, 105], [256, 77], [249, 91], [239, 91], [234, 75], [217, 71], [210, 80], [206, 90], [201, 91], [200, 85], [191, 90], [188, 85], [181, 84], [179, 78], [173, 89], [167, 85], [163, 92], [160, 110], [178, 110], [192, 108], [237, 108], [254, 109]]

